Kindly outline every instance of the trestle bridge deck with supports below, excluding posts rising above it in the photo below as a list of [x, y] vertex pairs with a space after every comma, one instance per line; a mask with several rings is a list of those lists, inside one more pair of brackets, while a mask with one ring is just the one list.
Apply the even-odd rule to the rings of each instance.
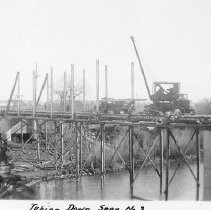
[[[165, 200], [168, 200], [169, 195], [169, 185], [174, 179], [174, 176], [176, 174], [176, 171], [178, 170], [181, 161], [184, 161], [187, 165], [190, 173], [192, 174], [195, 182], [196, 182], [196, 200], [199, 200], [199, 176], [200, 176], [200, 170], [199, 170], [199, 164], [200, 164], [200, 138], [199, 138], [199, 132], [203, 130], [210, 130], [211, 129], [211, 117], [210, 116], [186, 116], [176, 119], [169, 119], [167, 117], [152, 117], [147, 115], [126, 115], [126, 114], [120, 114], [120, 115], [109, 115], [109, 114], [95, 114], [95, 113], [75, 113], [74, 115], [67, 113], [67, 112], [47, 112], [47, 111], [38, 111], [33, 116], [32, 111], [1, 111], [0, 114], [1, 118], [8, 118], [8, 119], [18, 119], [22, 122], [23, 126], [29, 126], [32, 128], [33, 132], [33, 138], [37, 141], [37, 161], [40, 160], [40, 156], [42, 153], [42, 150], [40, 149], [40, 144], [42, 141], [45, 141], [47, 144], [48, 139], [48, 126], [47, 124], [53, 123], [55, 124], [55, 134], [60, 133], [61, 134], [61, 162], [59, 164], [63, 164], [64, 159], [64, 125], [69, 125], [71, 127], [74, 127], [74, 133], [75, 133], [75, 142], [76, 142], [76, 178], [77, 180], [80, 178], [80, 175], [82, 174], [82, 170], [84, 168], [83, 163], [83, 151], [82, 151], [82, 141], [83, 141], [83, 125], [84, 124], [94, 124], [99, 125], [100, 128], [100, 144], [101, 144], [101, 183], [103, 184], [104, 176], [106, 173], [106, 166], [105, 166], [105, 127], [107, 125], [119, 125], [122, 127], [126, 127], [127, 131], [125, 135], [128, 135], [129, 140], [129, 174], [130, 174], [130, 192], [131, 192], [131, 198], [134, 199], [144, 199], [140, 196], [136, 196], [133, 193], [133, 187], [135, 185], [135, 181], [138, 177], [138, 175], [141, 173], [143, 167], [145, 166], [147, 160], [150, 161], [151, 165], [153, 166], [155, 172], [159, 176], [160, 179], [160, 193], [164, 192], [165, 194]], [[34, 125], [30, 125], [27, 122], [32, 121], [34, 122]], [[45, 129], [43, 129], [43, 125]], [[155, 138], [148, 149], [147, 152], [145, 152], [145, 158], [142, 163], [142, 165], [139, 167], [137, 172], [134, 171], [134, 128], [136, 127], [155, 127], [159, 130], [159, 138]], [[185, 146], [185, 149], [181, 149], [180, 146], [177, 143], [177, 139], [175, 138], [172, 129], [174, 128], [191, 128], [194, 130], [192, 135], [190, 136], [189, 140], [187, 141], [187, 145]], [[22, 127], [19, 128], [22, 131]], [[21, 135], [22, 136], [22, 135]], [[171, 137], [171, 138], [170, 138]], [[194, 137], [196, 138], [195, 141], [195, 147], [196, 147], [196, 163], [197, 163], [197, 171], [194, 172], [192, 168], [190, 167], [187, 158], [186, 158], [186, 151], [188, 150], [188, 147], [190, 146], [191, 142], [193, 141]], [[159, 145], [160, 145], [160, 157], [159, 157], [159, 167], [156, 166], [156, 164], [153, 162], [153, 160], [150, 158], [150, 153], [155, 146], [156, 141], [159, 139]], [[165, 160], [164, 160], [164, 139], [166, 141], [166, 148], [165, 148]], [[180, 158], [178, 160], [177, 166], [173, 172], [173, 175], [169, 176], [169, 164], [170, 164], [170, 139], [174, 142], [176, 145], [176, 148], [178, 149], [178, 152], [180, 154]], [[125, 140], [125, 139], [124, 139]], [[118, 148], [123, 140], [120, 141], [119, 145], [114, 150], [113, 157], [117, 154]], [[164, 161], [165, 161], [165, 171], [164, 171]], [[58, 163], [57, 163], [58, 164]], [[165, 173], [165, 176], [164, 176]], [[163, 180], [163, 177], [165, 177], [165, 180]], [[163, 183], [165, 183], [165, 189], [163, 190]], [[141, 187], [141, 186], [140, 186]]]

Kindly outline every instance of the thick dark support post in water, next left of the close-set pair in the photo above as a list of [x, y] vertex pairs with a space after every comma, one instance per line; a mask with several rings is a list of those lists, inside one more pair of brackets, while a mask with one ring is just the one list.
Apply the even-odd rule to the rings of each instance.
[[134, 181], [134, 156], [133, 156], [133, 137], [134, 128], [129, 126], [129, 170], [130, 170], [130, 197], [133, 198], [133, 181]]

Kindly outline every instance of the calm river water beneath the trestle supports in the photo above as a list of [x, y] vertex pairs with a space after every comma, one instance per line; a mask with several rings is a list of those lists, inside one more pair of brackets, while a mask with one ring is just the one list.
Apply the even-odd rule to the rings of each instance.
[[[191, 163], [196, 173], [196, 164]], [[173, 173], [175, 162], [171, 163], [170, 173]], [[202, 199], [203, 165], [200, 166], [200, 199]], [[164, 177], [165, 180], [165, 177]], [[134, 195], [149, 200], [159, 200], [159, 177], [152, 167], [145, 167], [138, 176], [134, 185]], [[164, 185], [163, 185], [164, 188]], [[85, 176], [77, 183], [75, 180], [54, 180], [41, 182], [34, 186], [34, 199], [65, 199], [65, 200], [128, 200], [129, 173], [119, 171], [106, 174], [104, 187], [101, 190], [100, 177]], [[187, 166], [180, 166], [176, 176], [169, 187], [169, 200], [195, 200], [196, 182]], [[163, 198], [162, 198], [163, 199]]]

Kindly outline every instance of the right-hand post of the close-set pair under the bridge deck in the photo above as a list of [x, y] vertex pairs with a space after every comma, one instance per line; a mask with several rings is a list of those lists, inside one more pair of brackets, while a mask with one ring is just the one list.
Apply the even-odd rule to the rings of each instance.
[[166, 142], [166, 189], [165, 189], [165, 200], [168, 200], [169, 194], [169, 156], [170, 156], [170, 130], [167, 128], [167, 142]]

